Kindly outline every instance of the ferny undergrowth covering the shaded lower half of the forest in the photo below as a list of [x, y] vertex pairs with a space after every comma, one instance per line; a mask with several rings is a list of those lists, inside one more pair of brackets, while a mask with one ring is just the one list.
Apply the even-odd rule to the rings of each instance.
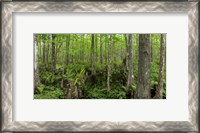
[[[131, 93], [127, 94], [127, 73], [121, 63], [113, 64], [110, 76], [110, 92], [107, 93], [107, 67], [96, 65], [95, 74], [89, 63], [56, 65], [52, 72], [51, 64], [39, 64], [40, 85], [34, 90], [35, 99], [131, 99], [137, 87], [137, 69], [134, 68], [134, 83]], [[151, 66], [151, 97], [155, 95], [158, 84], [158, 65]], [[164, 79], [163, 98], [166, 98], [166, 82]], [[69, 94], [69, 89], [72, 92]]]

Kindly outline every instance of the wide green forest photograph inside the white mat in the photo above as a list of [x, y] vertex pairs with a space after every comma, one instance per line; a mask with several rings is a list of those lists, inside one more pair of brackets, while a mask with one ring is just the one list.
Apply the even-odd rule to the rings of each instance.
[[165, 33], [35, 33], [34, 99], [166, 99]]

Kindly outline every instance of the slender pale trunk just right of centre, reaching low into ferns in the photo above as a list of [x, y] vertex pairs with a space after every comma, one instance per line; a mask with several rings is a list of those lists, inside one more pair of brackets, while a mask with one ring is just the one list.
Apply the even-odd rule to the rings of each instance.
[[109, 35], [109, 42], [108, 42], [108, 61], [107, 61], [107, 95], [110, 93], [110, 72], [111, 72], [111, 40], [112, 35]]

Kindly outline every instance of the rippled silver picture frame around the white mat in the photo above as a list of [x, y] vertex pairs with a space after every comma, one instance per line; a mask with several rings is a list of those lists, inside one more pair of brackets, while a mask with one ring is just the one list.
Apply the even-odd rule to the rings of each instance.
[[[7, 2], [6, 2], [7, 1]], [[199, 112], [199, 2], [2, 2], [1, 121], [3, 132], [16, 131], [184, 131], [198, 132]], [[17, 122], [12, 120], [12, 13], [13, 12], [186, 12], [188, 13], [188, 121], [66, 121]]]

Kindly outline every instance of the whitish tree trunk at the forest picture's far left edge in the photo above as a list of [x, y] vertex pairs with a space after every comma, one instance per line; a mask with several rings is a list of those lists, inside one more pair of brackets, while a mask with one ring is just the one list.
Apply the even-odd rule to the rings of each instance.
[[40, 85], [40, 78], [39, 78], [39, 69], [38, 69], [38, 58], [39, 58], [39, 53], [38, 53], [38, 38], [37, 34], [34, 35], [34, 42], [35, 42], [35, 62], [34, 62], [34, 91]]

